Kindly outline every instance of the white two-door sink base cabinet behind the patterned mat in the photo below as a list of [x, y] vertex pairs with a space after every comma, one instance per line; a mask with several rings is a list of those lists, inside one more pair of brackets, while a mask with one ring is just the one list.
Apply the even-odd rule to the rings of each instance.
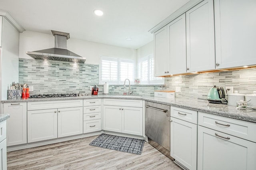
[[142, 100], [103, 99], [103, 130], [142, 136]]

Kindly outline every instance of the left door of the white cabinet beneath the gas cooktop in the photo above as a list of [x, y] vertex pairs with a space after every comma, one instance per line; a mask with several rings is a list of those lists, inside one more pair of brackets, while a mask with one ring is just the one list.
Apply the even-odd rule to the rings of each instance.
[[28, 111], [28, 143], [57, 138], [57, 109]]

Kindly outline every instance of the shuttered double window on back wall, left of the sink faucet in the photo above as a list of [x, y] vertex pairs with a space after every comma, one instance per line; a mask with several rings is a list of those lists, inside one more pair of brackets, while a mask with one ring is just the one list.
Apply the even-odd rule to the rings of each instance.
[[100, 57], [100, 84], [123, 84], [134, 80], [134, 60]]

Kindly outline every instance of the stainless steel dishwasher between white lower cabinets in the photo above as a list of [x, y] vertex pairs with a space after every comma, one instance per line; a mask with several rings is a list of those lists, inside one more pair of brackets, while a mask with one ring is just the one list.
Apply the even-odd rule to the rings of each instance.
[[145, 107], [148, 143], [173, 160], [170, 156], [170, 106], [146, 101]]

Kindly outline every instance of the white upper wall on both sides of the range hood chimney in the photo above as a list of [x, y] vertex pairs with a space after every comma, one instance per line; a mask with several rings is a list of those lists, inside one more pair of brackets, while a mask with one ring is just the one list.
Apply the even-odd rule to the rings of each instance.
[[[70, 35], [72, 37], [72, 35]], [[32, 59], [26, 51], [36, 51], [54, 47], [54, 36], [39, 32], [24, 31], [20, 33], [20, 58]], [[68, 39], [68, 50], [86, 57], [88, 64], [100, 64], [100, 56], [119, 57], [136, 60], [136, 49], [106, 45], [101, 43]]]

